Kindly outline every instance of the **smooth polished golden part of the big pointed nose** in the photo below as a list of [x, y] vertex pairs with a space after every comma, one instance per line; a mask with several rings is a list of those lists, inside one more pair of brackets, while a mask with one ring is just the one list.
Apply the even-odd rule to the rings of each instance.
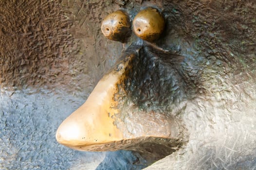
[[77, 150], [93, 150], [95, 145], [124, 139], [114, 125], [113, 116], [118, 113], [114, 94], [132, 57], [134, 54], [126, 55], [98, 82], [87, 101], [61, 123], [56, 132], [60, 144]]

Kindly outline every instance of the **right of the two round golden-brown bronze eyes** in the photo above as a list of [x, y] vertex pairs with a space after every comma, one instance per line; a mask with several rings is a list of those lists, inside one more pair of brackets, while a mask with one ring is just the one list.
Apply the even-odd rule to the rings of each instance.
[[143, 40], [152, 42], [159, 38], [165, 28], [165, 19], [157, 9], [140, 11], [132, 22], [134, 33]]

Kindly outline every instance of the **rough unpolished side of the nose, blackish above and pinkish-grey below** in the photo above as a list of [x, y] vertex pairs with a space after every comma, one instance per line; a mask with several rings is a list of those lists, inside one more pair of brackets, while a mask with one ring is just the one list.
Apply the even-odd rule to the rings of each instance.
[[[183, 143], [179, 131], [184, 129], [182, 126], [179, 129], [176, 124], [179, 121], [174, 122], [175, 115], [170, 113], [177, 103], [186, 100], [187, 85], [178, 72], [184, 57], [147, 45], [131, 45], [126, 50], [129, 51], [136, 56], [129, 61], [117, 84], [114, 100], [119, 113], [113, 117], [114, 123], [125, 138], [165, 136]], [[189, 95], [192, 93], [191, 90]]]

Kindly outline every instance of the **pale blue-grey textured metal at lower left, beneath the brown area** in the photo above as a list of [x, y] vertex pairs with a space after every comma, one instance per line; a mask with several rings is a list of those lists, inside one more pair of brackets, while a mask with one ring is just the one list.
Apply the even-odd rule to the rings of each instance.
[[[0, 93], [1, 170], [139, 170], [147, 165], [131, 152], [79, 152], [55, 140], [60, 122], [84, 99], [64, 91], [17, 90]], [[61, 114], [60, 114], [61, 113]], [[118, 155], [118, 157], [116, 157]]]

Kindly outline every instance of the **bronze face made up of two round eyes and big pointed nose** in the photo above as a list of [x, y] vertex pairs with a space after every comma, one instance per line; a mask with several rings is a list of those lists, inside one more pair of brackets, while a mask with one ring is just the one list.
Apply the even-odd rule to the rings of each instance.
[[[122, 15], [121, 19], [117, 14]], [[123, 27], [115, 25], [127, 16], [123, 14], [113, 12], [103, 20], [101, 28], [107, 38], [127, 39], [124, 35], [129, 34], [112, 31]], [[164, 18], [153, 8], [140, 12], [133, 24], [134, 31], [141, 29], [141, 37], [150, 41], [157, 39], [165, 26]], [[105, 34], [106, 29], [115, 35]], [[181, 127], [169, 114], [170, 106], [185, 95], [184, 89], [175, 89], [185, 84], [179, 73], [184, 57], [147, 45], [139, 38], [137, 41], [124, 50], [87, 101], [59, 126], [59, 143], [82, 151], [156, 151], [162, 147], [162, 155], [167, 155], [184, 142]]]

